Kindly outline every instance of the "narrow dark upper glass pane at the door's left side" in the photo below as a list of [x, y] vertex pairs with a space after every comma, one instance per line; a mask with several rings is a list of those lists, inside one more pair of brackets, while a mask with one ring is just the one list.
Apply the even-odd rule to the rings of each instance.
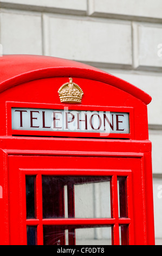
[[36, 194], [35, 184], [36, 176], [26, 176], [26, 205], [27, 205], [27, 219], [36, 218]]

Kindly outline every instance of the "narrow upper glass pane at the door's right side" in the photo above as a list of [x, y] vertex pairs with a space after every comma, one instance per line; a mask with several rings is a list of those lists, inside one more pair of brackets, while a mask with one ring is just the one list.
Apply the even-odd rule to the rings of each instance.
[[118, 176], [119, 217], [128, 217], [127, 211], [127, 177]]

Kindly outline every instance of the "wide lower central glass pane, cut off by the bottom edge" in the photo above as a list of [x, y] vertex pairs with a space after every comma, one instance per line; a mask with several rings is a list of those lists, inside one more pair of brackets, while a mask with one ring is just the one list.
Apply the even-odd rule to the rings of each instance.
[[44, 225], [43, 245], [112, 245], [112, 227]]

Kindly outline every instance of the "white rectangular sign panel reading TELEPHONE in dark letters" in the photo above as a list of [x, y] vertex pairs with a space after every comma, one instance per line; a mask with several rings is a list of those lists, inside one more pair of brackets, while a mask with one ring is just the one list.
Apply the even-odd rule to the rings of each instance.
[[12, 130], [129, 133], [129, 113], [15, 108]]

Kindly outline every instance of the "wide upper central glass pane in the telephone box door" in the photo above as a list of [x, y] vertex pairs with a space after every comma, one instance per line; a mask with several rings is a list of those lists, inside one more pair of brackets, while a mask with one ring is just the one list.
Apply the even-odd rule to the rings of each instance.
[[109, 176], [42, 176], [43, 218], [111, 218]]

